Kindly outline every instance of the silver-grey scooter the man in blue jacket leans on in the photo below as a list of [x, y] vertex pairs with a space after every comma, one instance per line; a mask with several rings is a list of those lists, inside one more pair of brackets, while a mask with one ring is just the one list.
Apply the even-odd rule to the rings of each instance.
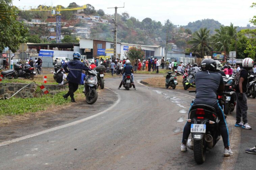
[[86, 97], [88, 104], [93, 104], [98, 99], [98, 79], [97, 72], [95, 70], [86, 71], [86, 78], [84, 80], [83, 93]]

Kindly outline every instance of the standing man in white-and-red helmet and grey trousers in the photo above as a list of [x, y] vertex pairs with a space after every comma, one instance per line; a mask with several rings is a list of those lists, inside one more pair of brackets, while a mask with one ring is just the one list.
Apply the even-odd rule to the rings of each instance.
[[[240, 79], [238, 85], [235, 87], [236, 92], [236, 127], [242, 127], [244, 129], [252, 129], [248, 124], [247, 119], [247, 84], [248, 84], [248, 71], [253, 67], [253, 60], [251, 58], [245, 58], [242, 61], [242, 69], [240, 70]], [[241, 122], [241, 117], [242, 121]]]

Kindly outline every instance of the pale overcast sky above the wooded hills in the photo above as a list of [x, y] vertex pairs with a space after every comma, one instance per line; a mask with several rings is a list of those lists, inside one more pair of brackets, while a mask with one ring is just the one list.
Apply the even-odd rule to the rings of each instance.
[[[214, 19], [223, 25], [232, 22], [235, 26], [246, 26], [249, 20], [256, 14], [256, 8], [250, 8], [256, 0], [44, 0], [43, 5], [62, 5], [67, 7], [69, 3], [76, 2], [78, 5], [91, 4], [96, 10], [103, 9], [105, 13], [112, 14], [114, 9], [119, 8], [118, 13], [127, 12], [130, 16], [142, 21], [151, 18], [162, 24], [169, 19], [174, 25], [187, 25], [202, 19]], [[15, 6], [38, 6], [35, 0], [14, 0]], [[251, 25], [252, 26], [252, 25]]]

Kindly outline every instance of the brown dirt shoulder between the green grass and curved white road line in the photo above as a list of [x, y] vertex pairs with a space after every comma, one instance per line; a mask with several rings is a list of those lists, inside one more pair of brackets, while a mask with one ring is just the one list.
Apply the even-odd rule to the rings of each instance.
[[98, 100], [93, 105], [85, 102], [85, 96], [78, 96], [76, 103], [51, 107], [46, 111], [6, 116], [0, 128], [0, 142], [40, 132], [94, 115], [105, 110], [116, 101], [116, 94], [108, 89], [99, 90]]

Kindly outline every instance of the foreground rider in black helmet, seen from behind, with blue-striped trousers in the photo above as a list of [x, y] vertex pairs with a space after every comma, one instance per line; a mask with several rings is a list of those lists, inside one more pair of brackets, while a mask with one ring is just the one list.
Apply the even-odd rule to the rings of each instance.
[[[215, 73], [216, 62], [213, 59], [204, 59], [201, 63], [202, 71], [195, 75], [196, 83], [196, 98], [191, 105], [206, 104], [216, 109], [216, 114], [220, 120], [219, 129], [224, 143], [224, 156], [232, 156], [233, 152], [229, 147], [229, 134], [227, 123], [221, 106], [217, 102], [216, 93], [223, 92], [224, 81], [219, 73]], [[187, 151], [185, 140], [188, 139], [190, 134], [190, 123], [187, 122], [182, 137], [181, 151]]]

